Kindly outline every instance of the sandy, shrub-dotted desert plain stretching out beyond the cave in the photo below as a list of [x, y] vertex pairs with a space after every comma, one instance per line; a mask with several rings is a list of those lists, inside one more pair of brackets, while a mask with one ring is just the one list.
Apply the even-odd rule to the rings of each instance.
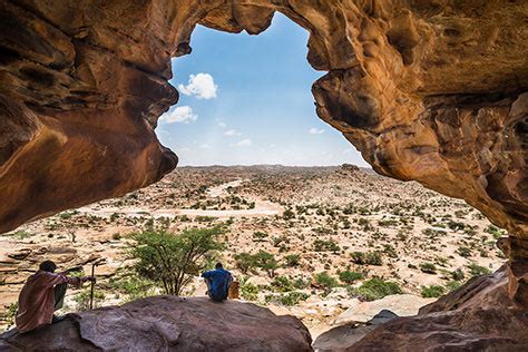
[[[313, 335], [335, 321], [350, 322], [350, 311], [343, 312], [351, 306], [362, 304], [364, 312], [365, 304], [375, 305], [379, 296], [365, 286], [372, 278], [380, 278], [385, 294], [404, 293], [384, 300], [409, 305], [400, 315], [413, 314], [503, 262], [495, 246], [502, 231], [465, 202], [415, 183], [346, 165], [182, 167], [121, 198], [1, 235], [2, 324], [10, 323], [21, 285], [43, 258], [89, 273], [90, 262], [104, 257], [96, 268], [96, 305], [118, 304], [159, 292], [131, 272], [130, 234], [216, 224], [227, 228], [222, 238], [226, 250], [218, 258], [241, 282], [242, 299], [300, 317]], [[244, 267], [244, 254], [257, 253], [266, 253], [272, 265]], [[186, 294], [204, 292], [196, 277]], [[71, 290], [63, 312], [86, 310], [87, 304], [87, 287]], [[369, 314], [365, 321], [373, 316]]]

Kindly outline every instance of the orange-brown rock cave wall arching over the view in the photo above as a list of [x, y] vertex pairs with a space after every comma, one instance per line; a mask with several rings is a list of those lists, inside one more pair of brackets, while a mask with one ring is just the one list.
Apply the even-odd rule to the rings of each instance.
[[177, 157], [154, 133], [178, 99], [170, 58], [190, 52], [197, 23], [256, 35], [280, 11], [310, 31], [307, 60], [327, 71], [312, 87], [317, 115], [378, 173], [463, 198], [507, 228], [510, 292], [528, 295], [527, 1], [0, 8], [0, 232], [170, 172]]

